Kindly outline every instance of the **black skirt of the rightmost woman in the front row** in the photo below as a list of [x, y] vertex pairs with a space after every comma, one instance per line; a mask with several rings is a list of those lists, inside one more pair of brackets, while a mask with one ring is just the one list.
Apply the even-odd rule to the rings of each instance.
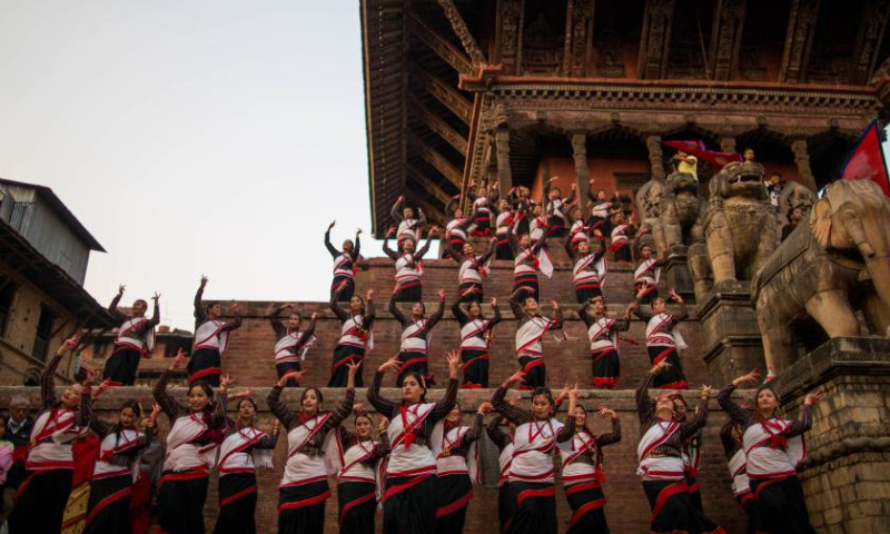
[[758, 533], [815, 534], [798, 475], [751, 479], [758, 500]]

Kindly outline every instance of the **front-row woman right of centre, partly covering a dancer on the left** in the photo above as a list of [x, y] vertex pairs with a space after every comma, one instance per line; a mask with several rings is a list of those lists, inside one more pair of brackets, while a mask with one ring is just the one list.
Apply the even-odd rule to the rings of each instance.
[[567, 447], [575, 435], [577, 388], [568, 390], [568, 414], [565, 425], [556, 421], [553, 394], [546, 387], [532, 393], [532, 409], [506, 402], [507, 392], [523, 380], [517, 372], [497, 388], [492, 406], [516, 425], [513, 435], [513, 462], [510, 467], [510, 495], [515, 506], [506, 534], [556, 534], [556, 490], [553, 455], [557, 443]]

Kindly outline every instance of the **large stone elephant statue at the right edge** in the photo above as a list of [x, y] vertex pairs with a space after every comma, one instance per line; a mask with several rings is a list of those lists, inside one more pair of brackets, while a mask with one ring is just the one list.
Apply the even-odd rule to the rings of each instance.
[[792, 327], [809, 318], [831, 338], [859, 336], [861, 309], [870, 333], [890, 336], [890, 199], [869, 180], [835, 181], [804, 221], [752, 283], [775, 373], [794, 362]]

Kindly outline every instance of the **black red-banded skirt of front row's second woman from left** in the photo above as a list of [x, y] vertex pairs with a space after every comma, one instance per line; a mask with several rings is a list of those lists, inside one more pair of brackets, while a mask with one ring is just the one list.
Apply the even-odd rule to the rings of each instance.
[[130, 531], [132, 474], [93, 479], [83, 534], [118, 534]]

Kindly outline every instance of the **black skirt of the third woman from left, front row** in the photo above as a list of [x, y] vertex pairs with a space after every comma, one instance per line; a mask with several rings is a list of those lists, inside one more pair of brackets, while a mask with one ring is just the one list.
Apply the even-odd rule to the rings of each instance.
[[167, 534], [204, 532], [206, 471], [165, 473], [158, 491], [158, 525]]

